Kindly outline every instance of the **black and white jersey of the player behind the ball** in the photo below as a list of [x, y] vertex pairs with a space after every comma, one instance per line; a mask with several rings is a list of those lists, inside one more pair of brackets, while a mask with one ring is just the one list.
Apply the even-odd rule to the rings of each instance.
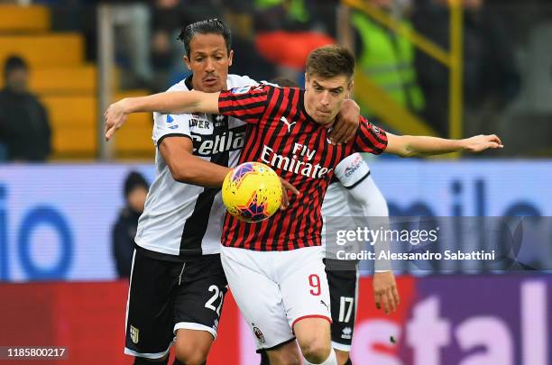
[[[227, 88], [257, 85], [248, 77], [228, 75]], [[168, 91], [190, 90], [191, 78]], [[169, 136], [193, 141], [194, 155], [233, 167], [245, 141], [245, 123], [223, 115], [153, 114], [155, 146]], [[134, 241], [166, 260], [214, 254], [220, 251], [225, 206], [220, 188], [198, 187], [175, 181], [159, 150], [155, 153], [156, 178], [150, 187]]]

